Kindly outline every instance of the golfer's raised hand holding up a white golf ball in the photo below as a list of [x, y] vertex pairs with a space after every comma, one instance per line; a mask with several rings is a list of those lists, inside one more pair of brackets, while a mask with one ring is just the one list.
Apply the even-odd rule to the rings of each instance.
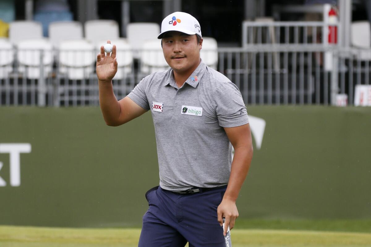
[[[111, 41], [107, 40], [111, 44]], [[112, 47], [112, 53], [104, 52], [104, 46], [101, 46], [101, 53], [96, 57], [96, 75], [99, 81], [111, 83], [117, 72], [116, 45]]]

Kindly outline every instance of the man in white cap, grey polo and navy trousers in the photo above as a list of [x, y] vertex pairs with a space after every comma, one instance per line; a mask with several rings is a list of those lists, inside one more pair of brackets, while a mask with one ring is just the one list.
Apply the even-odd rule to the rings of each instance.
[[154, 121], [160, 186], [146, 193], [139, 246], [225, 246], [222, 218], [234, 227], [253, 153], [246, 108], [238, 88], [200, 59], [203, 39], [193, 16], [170, 14], [158, 39], [171, 69], [145, 77], [124, 99], [112, 90], [115, 46], [111, 56], [101, 47], [96, 67], [106, 124], [119, 126], [147, 110]]

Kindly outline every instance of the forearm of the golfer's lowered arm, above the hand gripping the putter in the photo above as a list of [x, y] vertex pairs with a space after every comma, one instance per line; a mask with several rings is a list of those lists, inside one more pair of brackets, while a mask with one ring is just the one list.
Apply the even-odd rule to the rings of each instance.
[[253, 148], [237, 147], [234, 150], [231, 173], [229, 176], [228, 187], [223, 198], [236, 201], [240, 193], [243, 181], [245, 180], [250, 168], [250, 163], [253, 156]]

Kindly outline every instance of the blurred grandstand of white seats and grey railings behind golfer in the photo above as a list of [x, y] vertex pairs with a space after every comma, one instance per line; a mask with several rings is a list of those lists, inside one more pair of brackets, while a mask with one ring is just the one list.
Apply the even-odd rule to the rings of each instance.
[[[122, 11], [128, 11], [128, 1], [123, 2]], [[244, 1], [245, 5], [251, 2]], [[164, 1], [164, 11], [179, 3]], [[265, 9], [260, 6], [262, 15]], [[252, 19], [246, 8], [239, 25], [241, 37], [233, 37], [240, 43], [228, 46], [205, 37], [201, 57], [236, 83], [247, 104], [354, 104], [356, 86], [370, 84], [370, 23], [351, 23], [349, 1], [338, 1], [335, 19], [329, 16], [331, 9], [330, 4], [274, 5], [273, 17]], [[322, 19], [280, 20], [283, 13], [305, 12], [318, 13]], [[89, 17], [97, 15], [88, 13], [85, 19]], [[43, 21], [40, 14], [34, 19]], [[47, 31], [40, 21], [12, 21], [9, 37], [0, 40], [1, 105], [98, 105], [95, 59], [107, 39], [119, 52], [113, 81], [118, 99], [147, 74], [168, 68], [160, 41], [155, 39], [160, 29], [157, 22], [129, 23], [127, 17], [121, 23], [47, 21]], [[203, 30], [210, 25], [203, 24]], [[45, 33], [49, 36], [44, 37]]]

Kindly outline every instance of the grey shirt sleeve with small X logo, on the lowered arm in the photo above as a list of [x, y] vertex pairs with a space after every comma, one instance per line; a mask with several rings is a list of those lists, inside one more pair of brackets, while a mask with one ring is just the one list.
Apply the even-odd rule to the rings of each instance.
[[230, 81], [220, 83], [215, 101], [219, 126], [236, 127], [249, 123], [242, 95], [234, 83]]

